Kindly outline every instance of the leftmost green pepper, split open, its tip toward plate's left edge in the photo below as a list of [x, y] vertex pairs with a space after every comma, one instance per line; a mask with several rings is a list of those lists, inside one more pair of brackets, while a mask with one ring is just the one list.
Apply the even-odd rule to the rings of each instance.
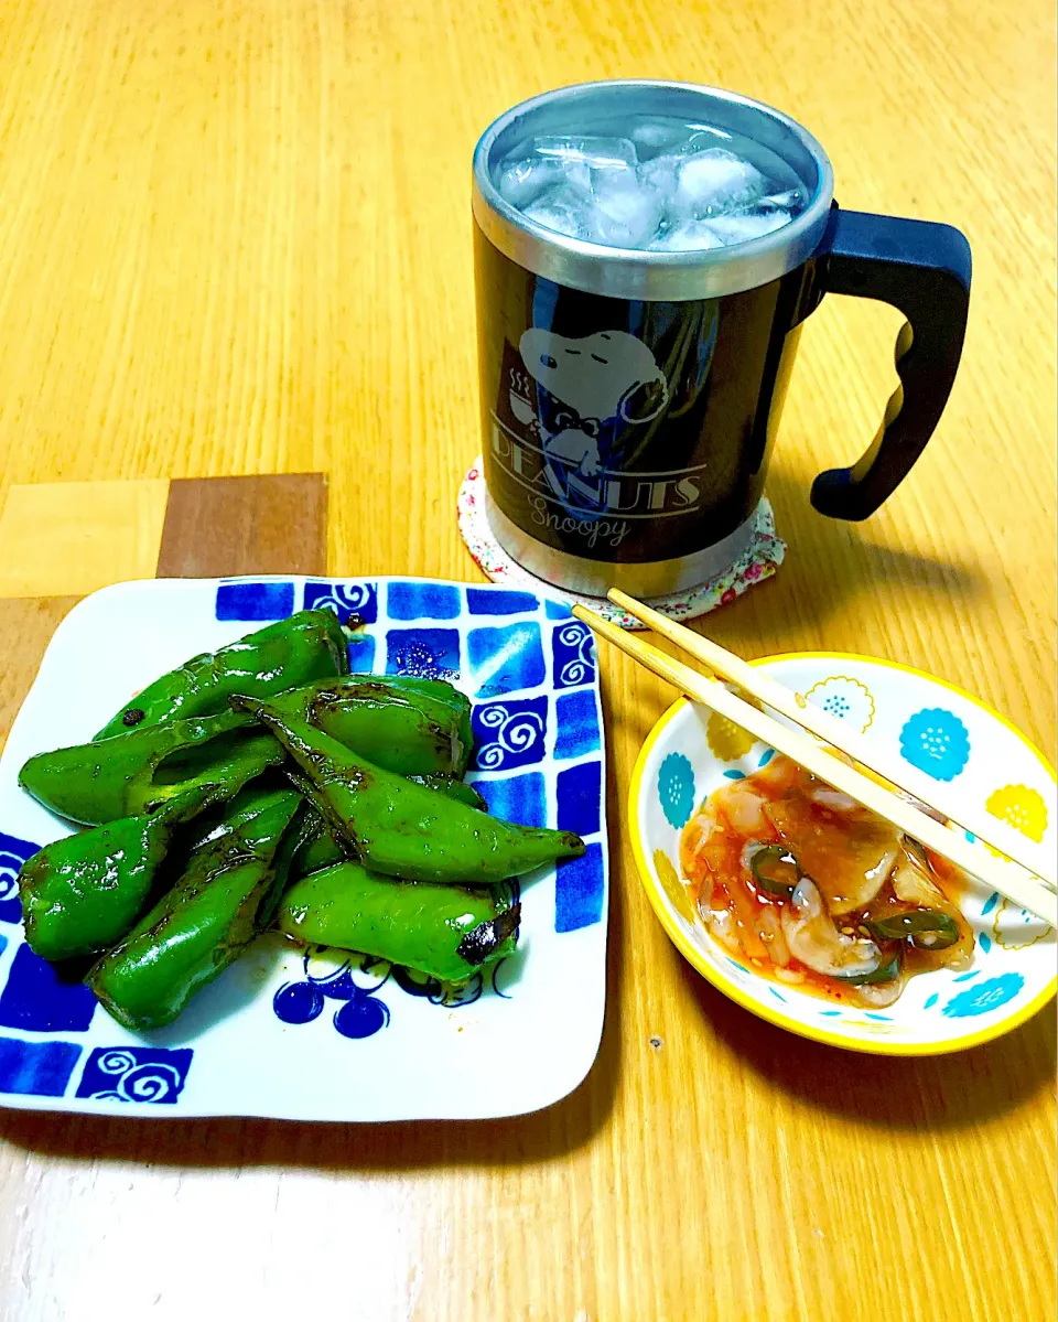
[[156, 812], [198, 787], [217, 787], [230, 798], [284, 756], [267, 730], [222, 711], [37, 754], [18, 784], [61, 817], [94, 826]]

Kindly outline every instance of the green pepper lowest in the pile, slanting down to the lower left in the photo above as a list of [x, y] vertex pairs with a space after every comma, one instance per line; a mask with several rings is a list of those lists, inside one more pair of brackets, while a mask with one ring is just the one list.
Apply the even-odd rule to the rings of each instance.
[[256, 814], [193, 853], [173, 888], [92, 966], [86, 981], [119, 1023], [172, 1023], [254, 940], [300, 802], [297, 791], [269, 792]]

